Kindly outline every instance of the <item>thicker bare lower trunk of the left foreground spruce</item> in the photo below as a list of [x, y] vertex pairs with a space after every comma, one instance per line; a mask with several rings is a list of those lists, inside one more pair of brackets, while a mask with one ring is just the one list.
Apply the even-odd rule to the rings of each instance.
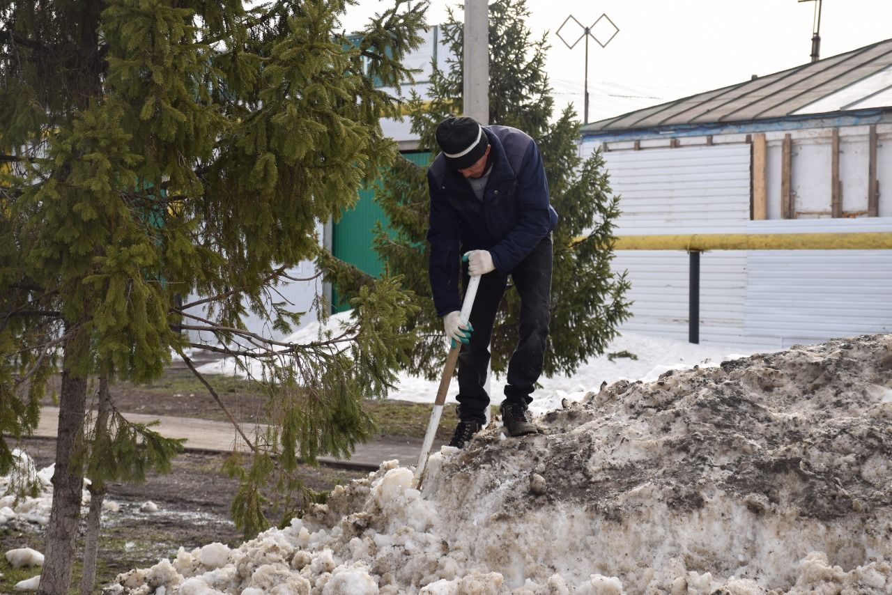
[[74, 464], [71, 457], [84, 429], [87, 406], [87, 377], [78, 369], [83, 361], [83, 351], [78, 347], [83, 346], [76, 343], [84, 343], [84, 338], [76, 336], [65, 346], [53, 474], [53, 508], [50, 510], [46, 559], [37, 595], [67, 593], [71, 583], [71, 566], [74, 565], [84, 474], [82, 467]]

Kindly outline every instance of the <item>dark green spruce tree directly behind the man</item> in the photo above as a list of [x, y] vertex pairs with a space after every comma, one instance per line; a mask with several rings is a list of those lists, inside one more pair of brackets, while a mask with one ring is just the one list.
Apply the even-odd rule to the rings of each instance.
[[[554, 100], [545, 72], [548, 45], [545, 36], [535, 39], [527, 27], [530, 13], [525, 0], [496, 0], [489, 8], [489, 123], [533, 136], [545, 162], [551, 203], [560, 217], [553, 236], [551, 335], [543, 371], [547, 376], [569, 374], [603, 353], [617, 335], [616, 326], [629, 316], [630, 304], [624, 299], [629, 283], [624, 273], [610, 270], [619, 197], [610, 189], [600, 153], [584, 161], [579, 157], [579, 122], [572, 106], [553, 118]], [[452, 12], [442, 33], [456, 58], [434, 70], [429, 97], [414, 95], [409, 102], [412, 129], [432, 159], [439, 153], [434, 139], [437, 124], [462, 110], [463, 29]], [[413, 351], [409, 369], [434, 377], [442, 369], [445, 350], [427, 279], [426, 169], [397, 160], [384, 173], [383, 186], [377, 200], [391, 226], [378, 227], [376, 250], [391, 271], [404, 277], [420, 308], [408, 328], [417, 330], [423, 340]], [[496, 373], [507, 369], [516, 346], [519, 312], [519, 297], [509, 290], [492, 335], [491, 366]]]

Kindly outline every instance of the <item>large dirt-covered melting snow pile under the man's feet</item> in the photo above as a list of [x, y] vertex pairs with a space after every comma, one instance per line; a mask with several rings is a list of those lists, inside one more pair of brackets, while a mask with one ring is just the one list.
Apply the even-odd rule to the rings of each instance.
[[384, 464], [106, 592], [892, 592], [892, 335], [623, 381], [537, 423], [444, 447], [423, 492]]

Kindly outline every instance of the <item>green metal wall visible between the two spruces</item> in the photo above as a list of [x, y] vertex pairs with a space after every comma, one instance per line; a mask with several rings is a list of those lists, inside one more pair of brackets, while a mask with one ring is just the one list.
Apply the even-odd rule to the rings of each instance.
[[[431, 153], [402, 153], [402, 156], [425, 168], [431, 159]], [[332, 226], [332, 253], [337, 258], [376, 277], [384, 270], [384, 263], [378, 258], [372, 244], [375, 225], [378, 221], [381, 221], [384, 227], [390, 225], [390, 220], [375, 200], [377, 187], [379, 182], [370, 189], [359, 190], [359, 201], [356, 206], [350, 211], [343, 211], [341, 220]], [[346, 301], [341, 303], [341, 297], [336, 290], [332, 292], [332, 303], [332, 310], [335, 312], [349, 308]]]

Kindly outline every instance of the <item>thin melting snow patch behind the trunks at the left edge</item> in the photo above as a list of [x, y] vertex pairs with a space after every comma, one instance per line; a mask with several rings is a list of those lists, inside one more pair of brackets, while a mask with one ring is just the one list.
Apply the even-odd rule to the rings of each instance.
[[[53, 507], [53, 473], [55, 464], [39, 471], [28, 453], [12, 449], [14, 467], [9, 475], [0, 475], [0, 526], [12, 521], [23, 521], [47, 525], [50, 522], [50, 509]], [[90, 503], [87, 491], [89, 480], [84, 480], [81, 503]], [[30, 495], [22, 495], [22, 493]], [[118, 512], [120, 506], [111, 500], [103, 501], [103, 510]]]

